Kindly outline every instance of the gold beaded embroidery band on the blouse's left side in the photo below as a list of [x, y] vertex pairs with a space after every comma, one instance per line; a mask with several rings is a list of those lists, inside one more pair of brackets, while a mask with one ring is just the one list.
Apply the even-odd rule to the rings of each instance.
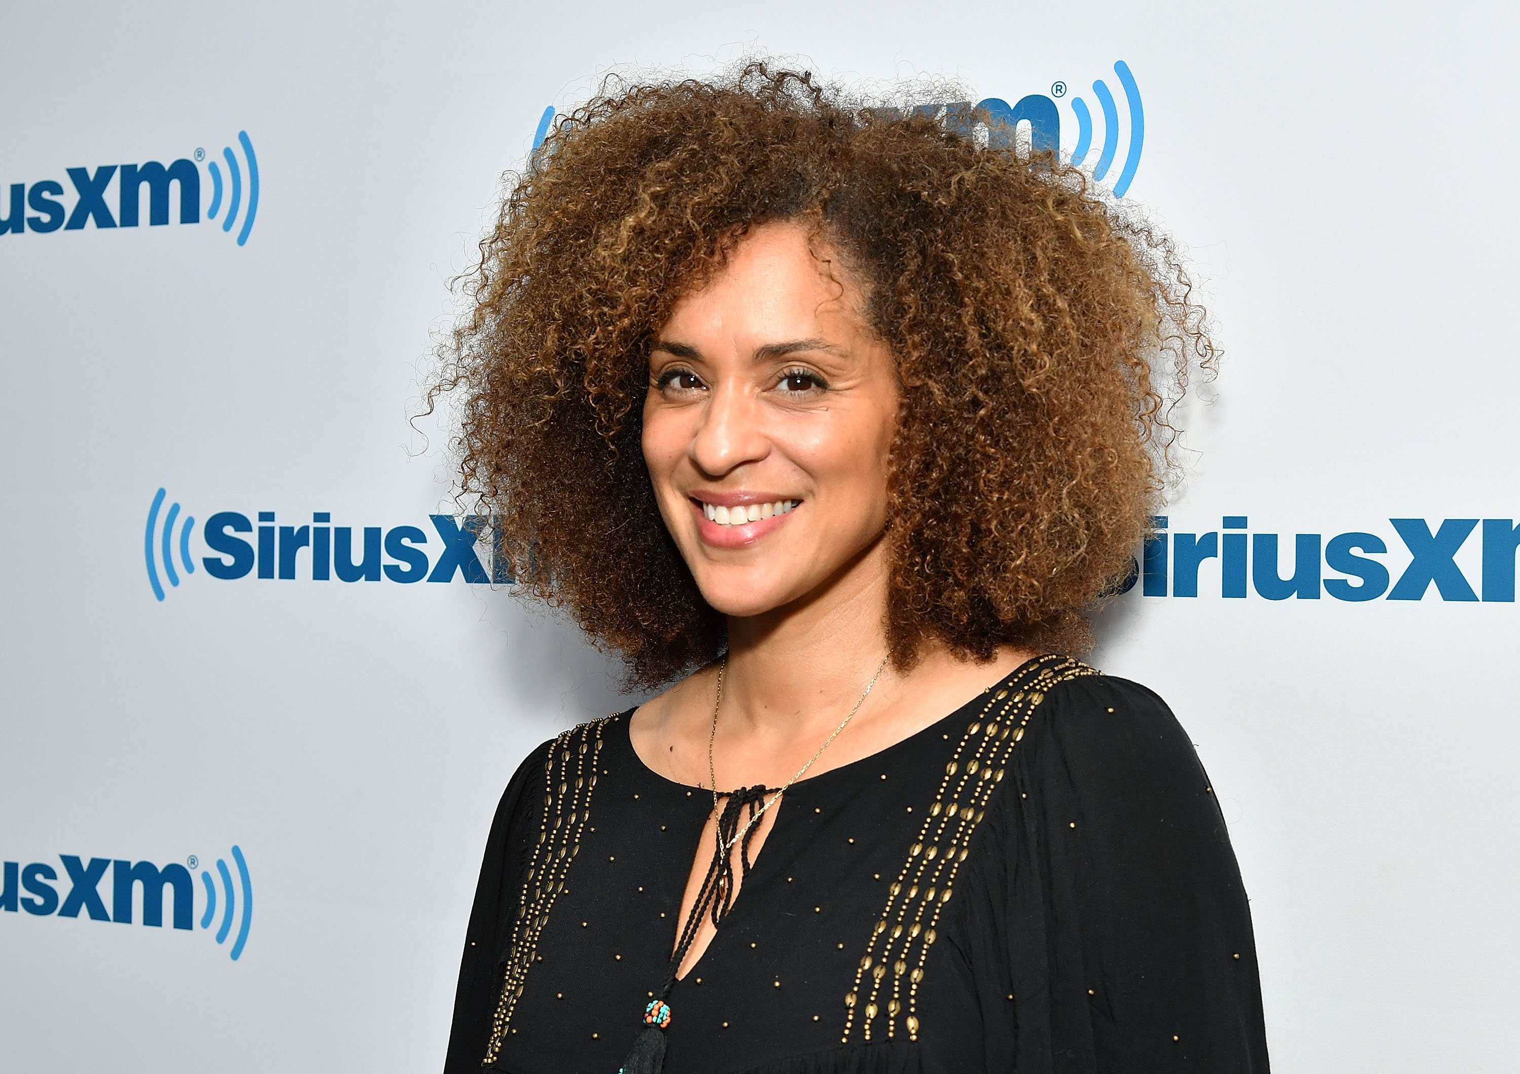
[[555, 739], [544, 762], [544, 811], [538, 820], [538, 841], [523, 881], [512, 946], [506, 960], [502, 998], [491, 1019], [491, 1042], [485, 1065], [502, 1053], [511, 1031], [512, 1010], [523, 995], [527, 971], [538, 958], [538, 937], [549, 923], [549, 911], [564, 891], [570, 863], [581, 852], [581, 832], [591, 818], [591, 791], [596, 788], [596, 762], [602, 753], [602, 729], [613, 717], [572, 727]]

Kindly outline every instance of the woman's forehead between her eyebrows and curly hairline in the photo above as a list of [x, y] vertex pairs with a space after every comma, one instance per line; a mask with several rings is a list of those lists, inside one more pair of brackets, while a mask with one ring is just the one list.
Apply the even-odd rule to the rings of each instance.
[[857, 284], [828, 243], [800, 224], [745, 234], [724, 269], [682, 295], [663, 336], [854, 335], [863, 330]]

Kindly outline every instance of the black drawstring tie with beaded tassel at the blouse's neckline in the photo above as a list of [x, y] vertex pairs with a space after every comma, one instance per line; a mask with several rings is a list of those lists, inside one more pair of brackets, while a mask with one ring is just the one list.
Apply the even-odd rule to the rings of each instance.
[[[692, 904], [692, 913], [687, 914], [686, 925], [681, 926], [675, 954], [670, 957], [670, 972], [666, 974], [664, 984], [655, 992], [655, 998], [644, 1007], [644, 1028], [638, 1033], [632, 1050], [628, 1053], [617, 1074], [660, 1074], [660, 1069], [664, 1066], [664, 1031], [670, 1025], [670, 1004], [666, 1001], [670, 996], [670, 990], [675, 989], [675, 975], [692, 949], [692, 943], [696, 940], [696, 933], [702, 925], [702, 914], [711, 910], [713, 926], [716, 928], [728, 916], [728, 911], [734, 908], [734, 894], [739, 885], [734, 884], [733, 844], [739, 838], [739, 825], [748, 825], [743, 837], [739, 838], [739, 882], [742, 884], [745, 876], [749, 875], [749, 840], [755, 837], [755, 829], [760, 828], [760, 825], [752, 821], [760, 814], [766, 794], [780, 794], [780, 791], [768, 788], [765, 783], [755, 783], [727, 796], [728, 802], [724, 805], [722, 812], [717, 814], [717, 843], [713, 847], [713, 863], [707, 867], [707, 876], [702, 878], [702, 888], [696, 893], [696, 902]], [[746, 812], [748, 815], [745, 815]]]

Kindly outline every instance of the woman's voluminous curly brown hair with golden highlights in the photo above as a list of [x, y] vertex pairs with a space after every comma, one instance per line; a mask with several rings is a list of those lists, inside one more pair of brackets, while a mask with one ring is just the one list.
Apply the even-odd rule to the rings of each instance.
[[1132, 569], [1166, 484], [1169, 406], [1216, 351], [1173, 242], [1008, 134], [749, 62], [606, 82], [508, 175], [429, 405], [461, 394], [461, 484], [500, 517], [497, 555], [631, 683], [727, 643], [640, 452], [648, 348], [774, 221], [842, 256], [897, 361], [894, 663], [930, 639], [982, 660], [1090, 647], [1084, 612]]

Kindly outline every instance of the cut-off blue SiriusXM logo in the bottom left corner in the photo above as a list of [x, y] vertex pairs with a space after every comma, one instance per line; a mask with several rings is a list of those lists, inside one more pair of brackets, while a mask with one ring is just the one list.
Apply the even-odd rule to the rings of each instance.
[[[18, 861], [5, 863], [5, 879], [0, 887], [0, 911], [26, 911], [36, 917], [47, 917], [56, 913], [59, 917], [79, 917], [81, 911], [90, 920], [111, 920], [119, 925], [131, 925], [134, 920], [134, 904], [141, 891], [143, 925], [163, 928], [164, 925], [164, 893], [170, 896], [170, 923], [173, 928], [195, 929], [195, 899], [196, 887], [190, 876], [192, 869], [201, 866], [199, 858], [190, 855], [185, 866], [178, 863], [158, 867], [150, 861], [131, 861], [129, 858], [91, 858], [85, 863], [73, 853], [58, 856], [62, 863], [64, 875], [68, 879], [68, 891], [59, 899], [59, 888], [55, 884], [59, 872], [46, 861], [33, 861], [21, 866]], [[228, 954], [233, 961], [243, 954], [248, 943], [248, 929], [254, 923], [254, 882], [248, 875], [248, 860], [243, 850], [233, 846], [233, 864], [237, 867], [237, 885], [233, 885], [233, 870], [223, 858], [216, 860], [216, 872], [220, 878], [220, 896], [217, 884], [208, 870], [201, 872], [202, 898], [201, 928], [210, 931], [216, 922], [216, 911], [220, 905], [222, 920], [216, 928], [216, 942], [226, 943], [233, 939]], [[106, 870], [111, 872], [111, 911], [106, 913], [105, 899], [100, 894], [100, 881]], [[233, 928], [237, 926], [236, 937]]]

